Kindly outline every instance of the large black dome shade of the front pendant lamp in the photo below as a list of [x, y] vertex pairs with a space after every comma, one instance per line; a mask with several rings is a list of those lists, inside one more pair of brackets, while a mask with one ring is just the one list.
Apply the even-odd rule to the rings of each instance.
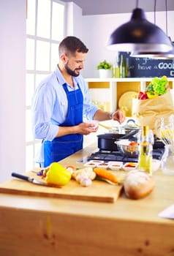
[[110, 35], [107, 48], [110, 50], [151, 53], [167, 52], [173, 49], [173, 45], [167, 34], [154, 23], [146, 20], [142, 9], [136, 8], [132, 12], [131, 20], [119, 26]]

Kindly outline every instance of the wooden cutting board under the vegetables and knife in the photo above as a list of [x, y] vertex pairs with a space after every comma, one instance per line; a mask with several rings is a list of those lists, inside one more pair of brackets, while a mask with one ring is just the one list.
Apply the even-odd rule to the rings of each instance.
[[[24, 175], [43, 181], [34, 172], [28, 172]], [[0, 185], [0, 192], [13, 195], [32, 195], [114, 203], [118, 199], [122, 187], [123, 185], [121, 184], [111, 185], [105, 181], [93, 181], [91, 186], [82, 187], [74, 180], [69, 181], [69, 184], [64, 187], [45, 187], [32, 184], [29, 181], [12, 178], [12, 180]]]

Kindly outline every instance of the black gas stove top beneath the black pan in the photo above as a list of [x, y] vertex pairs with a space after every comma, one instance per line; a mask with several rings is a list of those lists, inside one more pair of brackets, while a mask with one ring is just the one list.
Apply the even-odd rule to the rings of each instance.
[[[162, 159], [162, 155], [164, 154], [164, 148], [154, 148], [153, 149], [153, 159]], [[125, 157], [123, 156], [119, 151], [105, 151], [102, 149], [99, 149], [99, 151], [94, 152], [91, 154], [90, 157], [88, 157], [89, 160], [102, 160], [105, 162], [109, 161], [118, 161], [118, 162], [137, 162], [137, 157]]]

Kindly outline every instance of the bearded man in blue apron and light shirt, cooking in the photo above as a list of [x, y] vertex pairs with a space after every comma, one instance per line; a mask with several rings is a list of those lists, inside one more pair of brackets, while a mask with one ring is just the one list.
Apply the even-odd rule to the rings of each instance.
[[125, 119], [121, 110], [110, 116], [91, 103], [88, 86], [80, 75], [88, 48], [80, 39], [64, 38], [58, 53], [56, 70], [39, 84], [32, 102], [34, 136], [42, 139], [39, 162], [43, 167], [79, 151], [83, 135], [97, 132], [98, 127], [83, 122], [83, 116], [99, 121], [113, 118], [120, 124]]

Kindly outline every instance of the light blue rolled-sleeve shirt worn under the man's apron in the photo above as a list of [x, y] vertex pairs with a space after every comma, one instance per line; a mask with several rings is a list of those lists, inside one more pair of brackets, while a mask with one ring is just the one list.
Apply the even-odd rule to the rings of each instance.
[[31, 106], [32, 125], [36, 139], [52, 141], [58, 134], [59, 124], [65, 121], [68, 102], [63, 84], [66, 84], [68, 90], [72, 91], [78, 89], [78, 83], [83, 93], [83, 116], [87, 119], [94, 118], [94, 114], [99, 108], [91, 102], [86, 81], [81, 75], [72, 77], [72, 79], [74, 88], [67, 84], [60, 70], [56, 67], [56, 70], [37, 86]]

